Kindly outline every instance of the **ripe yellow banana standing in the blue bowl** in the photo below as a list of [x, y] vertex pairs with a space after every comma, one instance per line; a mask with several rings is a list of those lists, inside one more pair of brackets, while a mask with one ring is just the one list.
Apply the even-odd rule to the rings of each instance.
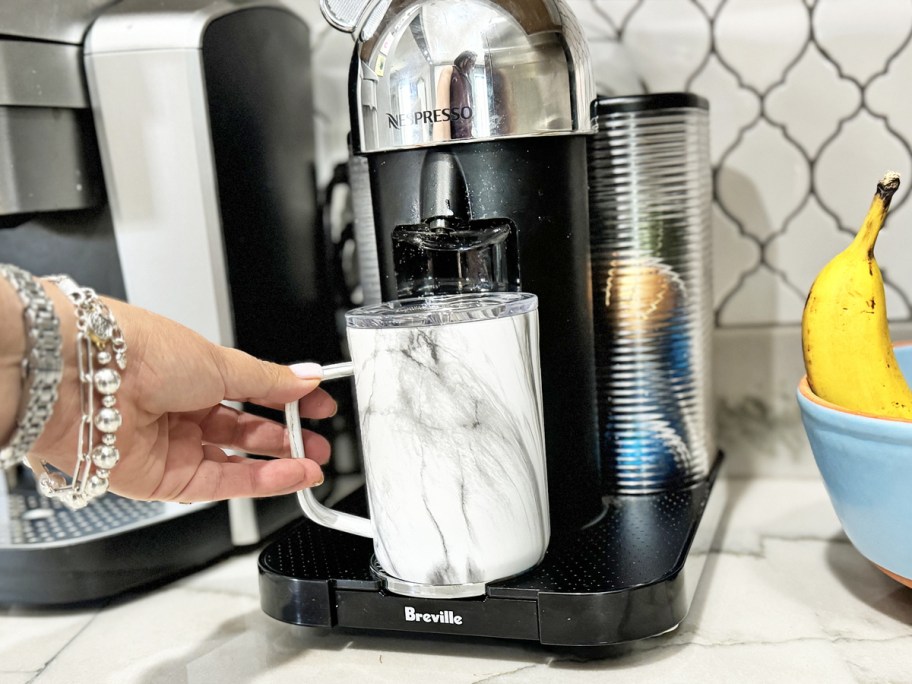
[[855, 239], [817, 275], [804, 305], [801, 346], [808, 384], [821, 399], [854, 411], [912, 420], [912, 390], [890, 340], [874, 243], [899, 174], [877, 184]]

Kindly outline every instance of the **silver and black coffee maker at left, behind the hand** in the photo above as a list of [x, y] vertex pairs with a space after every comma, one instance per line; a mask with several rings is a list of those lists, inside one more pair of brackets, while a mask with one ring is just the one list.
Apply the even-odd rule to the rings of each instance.
[[[298, 16], [265, 1], [6, 0], [0, 57], [0, 261], [263, 358], [339, 358]], [[300, 513], [294, 497], [113, 495], [69, 511], [24, 468], [3, 475], [5, 603], [164, 581]]]

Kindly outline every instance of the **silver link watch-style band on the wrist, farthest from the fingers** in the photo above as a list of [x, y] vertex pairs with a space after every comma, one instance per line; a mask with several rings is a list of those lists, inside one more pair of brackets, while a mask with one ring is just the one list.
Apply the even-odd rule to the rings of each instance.
[[24, 461], [57, 403], [63, 375], [60, 321], [44, 288], [18, 266], [0, 264], [0, 277], [16, 290], [24, 306], [25, 356], [22, 359], [22, 400], [16, 429], [0, 449], [0, 470]]

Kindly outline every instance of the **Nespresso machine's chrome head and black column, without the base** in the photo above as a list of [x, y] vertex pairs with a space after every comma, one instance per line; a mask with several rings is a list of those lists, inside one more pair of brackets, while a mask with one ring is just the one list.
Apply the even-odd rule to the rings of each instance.
[[352, 62], [384, 300], [539, 298], [552, 526], [601, 511], [589, 276], [586, 43], [547, 2], [394, 2]]

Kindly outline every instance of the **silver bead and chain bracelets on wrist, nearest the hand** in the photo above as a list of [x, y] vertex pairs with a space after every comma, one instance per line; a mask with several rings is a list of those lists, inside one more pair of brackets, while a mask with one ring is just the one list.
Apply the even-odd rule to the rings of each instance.
[[[108, 476], [120, 459], [116, 433], [121, 415], [115, 405], [121, 377], [117, 369], [123, 371], [127, 367], [127, 343], [114, 314], [92, 288], [80, 287], [68, 276], [51, 276], [48, 280], [56, 283], [76, 308], [82, 421], [76, 467], [69, 484], [59, 472], [42, 463], [44, 473], [38, 478], [38, 489], [68, 508], [77, 509], [108, 491]], [[112, 361], [117, 369], [111, 367]], [[96, 403], [100, 406], [96, 407]]]

